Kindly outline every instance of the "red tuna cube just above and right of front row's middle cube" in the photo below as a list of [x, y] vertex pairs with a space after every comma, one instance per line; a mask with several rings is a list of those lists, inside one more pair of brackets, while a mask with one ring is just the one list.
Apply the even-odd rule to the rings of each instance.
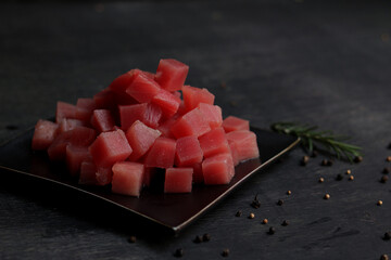
[[176, 143], [176, 165], [192, 166], [202, 161], [203, 154], [198, 139], [193, 135], [180, 138]]

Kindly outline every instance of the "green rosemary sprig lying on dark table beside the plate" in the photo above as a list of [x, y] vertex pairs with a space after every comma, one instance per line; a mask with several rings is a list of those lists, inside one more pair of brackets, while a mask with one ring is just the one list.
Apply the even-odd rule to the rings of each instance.
[[[336, 135], [332, 131], [318, 131], [318, 127], [308, 126], [297, 122], [275, 122], [270, 126], [272, 130], [294, 135], [301, 139], [302, 146], [313, 153], [316, 145], [321, 145], [323, 151], [336, 156], [338, 159], [342, 157], [346, 158], [350, 162], [353, 162], [354, 158], [362, 156], [361, 147], [348, 144], [344, 141], [346, 136]], [[321, 150], [316, 146], [317, 150]]]

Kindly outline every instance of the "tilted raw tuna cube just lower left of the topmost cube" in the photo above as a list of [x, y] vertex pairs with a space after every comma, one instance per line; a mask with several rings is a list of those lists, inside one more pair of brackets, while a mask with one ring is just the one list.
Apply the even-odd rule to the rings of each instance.
[[156, 81], [138, 74], [126, 89], [126, 93], [140, 103], [150, 102], [160, 92], [161, 88]]

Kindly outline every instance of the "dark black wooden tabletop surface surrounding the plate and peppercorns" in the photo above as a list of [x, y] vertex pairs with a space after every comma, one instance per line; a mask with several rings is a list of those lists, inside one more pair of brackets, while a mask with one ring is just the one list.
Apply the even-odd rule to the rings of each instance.
[[[58, 100], [75, 103], [130, 68], [154, 70], [159, 58], [175, 57], [189, 64], [188, 83], [216, 94], [225, 116], [261, 128], [318, 125], [351, 136], [365, 157], [320, 167], [319, 156], [301, 167], [295, 150], [177, 237], [143, 234], [137, 220], [88, 198], [53, 199], [64, 191], [3, 179], [0, 259], [174, 259], [176, 248], [182, 259], [223, 258], [225, 248], [229, 259], [391, 255], [382, 239], [391, 230], [391, 181], [379, 182], [391, 155], [390, 11], [389, 1], [1, 4], [0, 143], [52, 117]], [[354, 181], [336, 181], [346, 169]], [[258, 209], [250, 207], [255, 194]], [[204, 233], [210, 242], [192, 242]]]

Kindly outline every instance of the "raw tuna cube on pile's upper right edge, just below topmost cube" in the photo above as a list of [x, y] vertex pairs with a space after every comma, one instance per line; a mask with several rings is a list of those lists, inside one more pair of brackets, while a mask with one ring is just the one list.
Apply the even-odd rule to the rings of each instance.
[[184, 102], [187, 110], [192, 110], [199, 106], [200, 103], [213, 105], [214, 94], [207, 91], [207, 89], [199, 89], [191, 86], [184, 86]]

